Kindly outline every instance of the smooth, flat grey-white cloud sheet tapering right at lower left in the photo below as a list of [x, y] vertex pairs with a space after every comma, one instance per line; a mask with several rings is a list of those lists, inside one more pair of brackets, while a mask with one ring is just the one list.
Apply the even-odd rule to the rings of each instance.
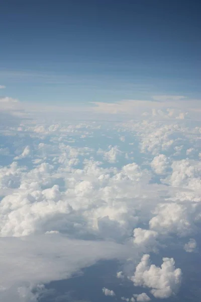
[[[0, 286], [6, 288], [8, 296], [14, 288], [17, 296], [16, 291], [22, 287], [24, 291], [37, 284], [67, 279], [100, 259], [124, 259], [129, 254], [126, 247], [116, 243], [70, 240], [59, 234], [1, 238], [0, 242], [0, 269], [4, 276]], [[0, 297], [4, 294], [0, 292]]]

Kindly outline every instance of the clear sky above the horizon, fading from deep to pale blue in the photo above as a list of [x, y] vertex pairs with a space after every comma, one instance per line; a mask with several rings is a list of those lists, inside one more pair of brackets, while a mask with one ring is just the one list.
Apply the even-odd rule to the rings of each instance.
[[1, 95], [36, 102], [199, 98], [200, 1], [7, 0]]

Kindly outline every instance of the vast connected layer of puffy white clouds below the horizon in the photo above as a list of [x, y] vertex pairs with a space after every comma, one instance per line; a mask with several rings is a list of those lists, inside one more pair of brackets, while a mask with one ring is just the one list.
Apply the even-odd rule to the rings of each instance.
[[[22, 113], [17, 101], [2, 103], [7, 114]], [[121, 259], [117, 279], [134, 285], [133, 296], [122, 300], [146, 302], [178, 292], [181, 269], [165, 251], [170, 238], [183, 252], [197, 250], [201, 128], [185, 121], [178, 109], [152, 109], [149, 104], [141, 118], [127, 122], [92, 120], [90, 115], [85, 122], [75, 117], [53, 123], [34, 113], [33, 119], [20, 115], [17, 124], [4, 124], [4, 301], [40, 300], [43, 284], [68, 278], [100, 259]], [[163, 260], [161, 266], [151, 264], [153, 254]], [[27, 266], [30, 261], [36, 266]], [[101, 290], [117, 297], [107, 287]]]

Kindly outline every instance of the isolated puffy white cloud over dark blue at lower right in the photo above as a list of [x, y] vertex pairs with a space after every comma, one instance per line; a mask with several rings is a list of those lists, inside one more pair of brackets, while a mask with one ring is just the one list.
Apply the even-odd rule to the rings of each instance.
[[130, 279], [135, 286], [152, 288], [150, 292], [156, 298], [167, 298], [177, 291], [181, 283], [181, 270], [175, 269], [173, 258], [163, 258], [160, 268], [150, 264], [150, 256], [145, 254]]

